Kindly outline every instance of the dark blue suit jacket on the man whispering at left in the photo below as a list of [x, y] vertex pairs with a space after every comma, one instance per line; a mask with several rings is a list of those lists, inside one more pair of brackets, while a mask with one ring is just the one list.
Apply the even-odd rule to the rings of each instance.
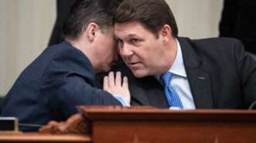
[[45, 125], [77, 113], [76, 105], [120, 105], [111, 94], [95, 88], [94, 76], [88, 58], [68, 42], [46, 48], [15, 81], [2, 103], [2, 116]]

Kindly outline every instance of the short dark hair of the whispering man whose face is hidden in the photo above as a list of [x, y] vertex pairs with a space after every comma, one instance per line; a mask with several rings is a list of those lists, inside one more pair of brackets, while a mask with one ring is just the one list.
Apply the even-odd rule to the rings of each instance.
[[121, 0], [77, 0], [63, 25], [63, 38], [76, 39], [95, 22], [104, 32], [114, 25], [114, 12]]

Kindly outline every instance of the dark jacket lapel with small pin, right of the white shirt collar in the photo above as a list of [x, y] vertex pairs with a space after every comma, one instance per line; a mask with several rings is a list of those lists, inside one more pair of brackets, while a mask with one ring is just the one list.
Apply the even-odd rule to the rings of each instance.
[[196, 108], [213, 108], [210, 75], [202, 67], [203, 60], [186, 38], [178, 38], [183, 62]]

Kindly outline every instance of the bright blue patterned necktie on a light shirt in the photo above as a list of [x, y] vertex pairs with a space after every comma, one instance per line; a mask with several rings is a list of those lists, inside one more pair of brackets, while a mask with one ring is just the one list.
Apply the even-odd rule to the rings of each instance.
[[179, 98], [179, 95], [170, 85], [172, 73], [167, 71], [166, 73], [162, 74], [160, 78], [165, 86], [165, 93], [169, 104], [169, 108], [183, 108], [183, 104]]

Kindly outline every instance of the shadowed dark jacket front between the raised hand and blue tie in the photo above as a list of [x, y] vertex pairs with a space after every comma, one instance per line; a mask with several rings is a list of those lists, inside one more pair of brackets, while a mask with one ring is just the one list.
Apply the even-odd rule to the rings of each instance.
[[159, 108], [168, 108], [163, 87], [154, 76], [135, 78], [131, 70], [122, 61], [115, 65], [112, 70], [121, 71], [122, 75], [128, 77], [131, 105], [152, 105]]

